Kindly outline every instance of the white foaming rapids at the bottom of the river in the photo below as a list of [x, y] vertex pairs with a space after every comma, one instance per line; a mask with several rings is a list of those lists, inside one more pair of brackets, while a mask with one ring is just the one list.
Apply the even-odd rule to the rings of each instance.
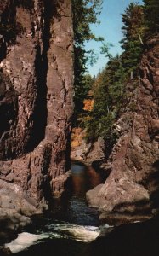
[[[98, 236], [101, 236], [103, 230], [108, 230], [109, 225], [105, 224], [101, 227], [82, 226], [77, 224], [50, 224], [47, 225], [48, 232], [42, 234], [31, 234], [22, 232], [18, 237], [5, 246], [9, 247], [12, 253], [18, 253], [49, 238], [65, 238], [82, 242], [94, 241]], [[49, 231], [50, 230], [50, 231]], [[105, 232], [106, 233], [106, 232]]]

